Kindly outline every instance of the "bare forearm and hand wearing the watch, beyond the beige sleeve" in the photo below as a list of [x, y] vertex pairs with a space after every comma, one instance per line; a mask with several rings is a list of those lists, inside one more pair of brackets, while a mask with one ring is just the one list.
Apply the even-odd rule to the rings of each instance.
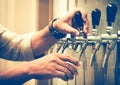
[[[61, 33], [70, 33], [74, 34], [76, 36], [79, 36], [78, 30], [72, 27], [72, 19], [76, 12], [80, 11], [82, 13], [82, 18], [84, 20], [84, 32], [87, 34], [89, 32], [89, 21], [87, 19], [86, 12], [79, 8], [74, 10], [73, 12], [70, 12], [66, 14], [66, 16], [62, 17], [61, 19], [55, 21], [53, 23], [53, 27], [56, 30], [59, 30]], [[35, 56], [40, 55], [40, 53], [44, 53], [47, 49], [49, 49], [54, 43], [56, 43], [57, 39], [55, 39], [53, 36], [50, 36], [49, 33], [49, 27], [51, 23], [43, 28], [43, 30], [36, 32], [31, 40], [32, 50], [33, 54]]]

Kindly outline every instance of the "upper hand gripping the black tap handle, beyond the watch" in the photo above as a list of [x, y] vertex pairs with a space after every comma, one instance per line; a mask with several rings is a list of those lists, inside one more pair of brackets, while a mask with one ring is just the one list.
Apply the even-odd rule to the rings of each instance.
[[83, 31], [88, 35], [89, 21], [87, 19], [86, 12], [82, 8], [77, 8], [77, 9], [73, 10], [72, 12], [66, 14], [66, 16], [62, 17], [61, 19], [55, 21], [53, 23], [53, 27], [62, 33], [70, 33], [70, 34], [79, 36], [78, 30], [76, 30], [75, 28], [72, 27], [72, 24], [73, 24], [72, 19], [73, 19], [75, 13], [79, 12], [79, 11], [81, 12], [82, 18], [84, 21], [84, 30]]

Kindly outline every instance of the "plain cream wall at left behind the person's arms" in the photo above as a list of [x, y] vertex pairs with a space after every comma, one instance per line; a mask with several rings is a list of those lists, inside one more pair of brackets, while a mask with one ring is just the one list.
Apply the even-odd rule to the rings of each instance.
[[[37, 0], [0, 0], [0, 24], [18, 34], [36, 30]], [[0, 70], [3, 70], [18, 62], [0, 59]], [[24, 85], [35, 85], [32, 80]]]

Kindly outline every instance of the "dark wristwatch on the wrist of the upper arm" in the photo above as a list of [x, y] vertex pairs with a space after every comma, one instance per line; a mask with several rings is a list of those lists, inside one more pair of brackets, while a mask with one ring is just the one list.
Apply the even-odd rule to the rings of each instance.
[[54, 38], [56, 39], [60, 39], [60, 38], [63, 38], [66, 36], [66, 34], [63, 34], [61, 32], [59, 32], [59, 30], [55, 29], [53, 27], [53, 23], [58, 20], [58, 18], [55, 18], [52, 20], [51, 24], [50, 24], [50, 27], [49, 27], [49, 32], [50, 32], [50, 35], [53, 36]]

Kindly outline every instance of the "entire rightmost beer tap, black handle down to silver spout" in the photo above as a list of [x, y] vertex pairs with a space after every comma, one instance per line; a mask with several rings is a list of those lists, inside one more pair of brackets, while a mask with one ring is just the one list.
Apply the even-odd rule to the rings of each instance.
[[117, 6], [115, 4], [108, 4], [106, 8], [106, 14], [107, 14], [108, 27], [106, 30], [107, 32], [106, 35], [105, 34], [102, 35], [102, 38], [109, 40], [109, 42], [107, 43], [107, 49], [106, 49], [105, 57], [103, 59], [103, 64], [102, 64], [103, 68], [107, 65], [110, 53], [116, 46], [116, 42], [117, 42], [117, 35], [112, 34], [111, 32], [111, 30], [113, 29], [112, 23], [115, 21], [115, 17], [117, 14]]

